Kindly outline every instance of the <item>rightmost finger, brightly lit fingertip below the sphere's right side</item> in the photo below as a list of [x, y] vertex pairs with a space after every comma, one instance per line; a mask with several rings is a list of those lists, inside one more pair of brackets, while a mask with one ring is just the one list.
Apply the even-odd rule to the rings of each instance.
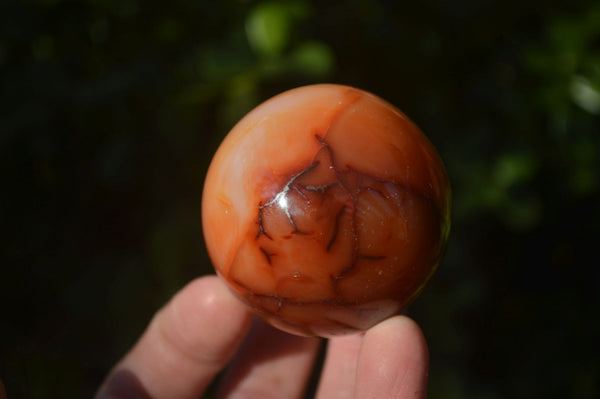
[[358, 357], [357, 398], [425, 398], [429, 358], [417, 324], [395, 316], [365, 334]]

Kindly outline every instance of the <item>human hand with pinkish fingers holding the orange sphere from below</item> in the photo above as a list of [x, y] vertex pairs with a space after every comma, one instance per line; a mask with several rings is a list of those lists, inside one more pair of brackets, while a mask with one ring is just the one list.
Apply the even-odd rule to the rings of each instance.
[[[319, 343], [252, 322], [217, 277], [202, 277], [156, 314], [96, 398], [197, 398], [227, 365], [219, 398], [300, 398]], [[329, 340], [316, 397], [425, 398], [427, 370], [421, 330], [395, 316]]]

